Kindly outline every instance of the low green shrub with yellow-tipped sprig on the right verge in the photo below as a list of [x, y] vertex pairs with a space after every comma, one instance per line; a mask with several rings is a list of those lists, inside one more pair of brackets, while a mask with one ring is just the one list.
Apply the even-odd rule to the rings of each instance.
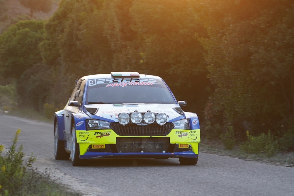
[[240, 149], [245, 153], [250, 154], [265, 154], [267, 157], [272, 157], [278, 152], [278, 140], [275, 140], [273, 135], [260, 134], [259, 136], [252, 136], [247, 131], [247, 141], [240, 146]]

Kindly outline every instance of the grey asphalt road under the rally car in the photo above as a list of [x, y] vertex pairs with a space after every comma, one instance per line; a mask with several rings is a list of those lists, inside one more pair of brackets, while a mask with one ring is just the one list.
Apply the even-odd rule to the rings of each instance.
[[55, 160], [53, 123], [0, 114], [0, 144], [5, 148], [18, 128], [18, 144], [34, 164], [85, 195], [281, 195], [294, 196], [294, 168], [273, 166], [201, 153], [197, 165], [179, 165], [177, 158], [100, 159], [74, 167]]

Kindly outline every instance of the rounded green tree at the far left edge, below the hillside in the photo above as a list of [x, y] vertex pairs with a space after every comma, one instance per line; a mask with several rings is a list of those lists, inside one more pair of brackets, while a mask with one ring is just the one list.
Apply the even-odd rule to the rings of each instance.
[[5, 78], [19, 78], [41, 62], [38, 45], [43, 41], [44, 21], [20, 21], [0, 35], [0, 70]]

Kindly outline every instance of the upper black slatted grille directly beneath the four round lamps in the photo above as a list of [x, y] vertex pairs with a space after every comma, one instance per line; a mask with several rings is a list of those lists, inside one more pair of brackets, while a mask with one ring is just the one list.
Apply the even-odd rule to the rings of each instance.
[[133, 123], [121, 125], [111, 123], [110, 127], [117, 135], [123, 136], [166, 136], [174, 128], [174, 125], [173, 123], [166, 123], [165, 125], [137, 125]]

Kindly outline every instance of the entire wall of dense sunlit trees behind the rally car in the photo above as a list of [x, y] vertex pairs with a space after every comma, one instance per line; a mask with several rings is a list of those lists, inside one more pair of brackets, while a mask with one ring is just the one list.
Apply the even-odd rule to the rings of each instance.
[[65, 103], [81, 76], [147, 71], [207, 137], [294, 137], [292, 0], [61, 0], [44, 26], [26, 23], [0, 36], [0, 68], [37, 110]]

